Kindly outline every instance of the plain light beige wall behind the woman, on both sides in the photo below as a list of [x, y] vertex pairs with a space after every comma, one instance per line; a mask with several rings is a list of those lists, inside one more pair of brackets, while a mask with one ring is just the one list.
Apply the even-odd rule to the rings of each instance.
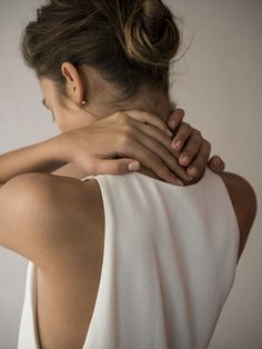
[[[42, 1], [0, 1], [0, 153], [59, 133], [19, 54], [23, 24]], [[258, 215], [210, 349], [262, 348], [262, 2], [169, 0], [183, 18], [184, 49], [172, 97], [258, 196]], [[28, 261], [0, 248], [0, 349], [17, 348]], [[187, 349], [187, 348], [185, 348]]]

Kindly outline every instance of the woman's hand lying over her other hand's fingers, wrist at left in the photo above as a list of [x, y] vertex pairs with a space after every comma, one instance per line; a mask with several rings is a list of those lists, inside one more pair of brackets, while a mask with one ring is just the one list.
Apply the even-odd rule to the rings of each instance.
[[[158, 116], [140, 110], [128, 111], [128, 114], [118, 112], [60, 134], [59, 158], [77, 164], [87, 176], [127, 173], [128, 164], [139, 161], [169, 182], [179, 185], [174, 173], [189, 181], [185, 169], [178, 161], [178, 151], [171, 147], [171, 134], [165, 132], [168, 127]], [[179, 134], [182, 133], [178, 131]], [[202, 168], [205, 164], [206, 161]]]

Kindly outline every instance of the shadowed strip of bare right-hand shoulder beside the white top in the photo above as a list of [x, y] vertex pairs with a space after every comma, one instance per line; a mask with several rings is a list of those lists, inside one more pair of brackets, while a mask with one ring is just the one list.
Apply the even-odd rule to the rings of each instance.
[[250, 230], [256, 216], [256, 196], [250, 182], [241, 176], [230, 172], [220, 173], [223, 179], [236, 216], [240, 230], [238, 261], [243, 252]]

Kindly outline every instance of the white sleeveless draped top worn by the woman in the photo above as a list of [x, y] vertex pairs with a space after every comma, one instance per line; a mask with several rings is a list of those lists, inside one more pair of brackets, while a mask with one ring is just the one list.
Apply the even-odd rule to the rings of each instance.
[[[204, 349], [234, 281], [239, 226], [209, 168], [178, 187], [142, 173], [99, 174], [104, 255], [83, 349]], [[39, 349], [37, 266], [29, 261], [19, 349]]]

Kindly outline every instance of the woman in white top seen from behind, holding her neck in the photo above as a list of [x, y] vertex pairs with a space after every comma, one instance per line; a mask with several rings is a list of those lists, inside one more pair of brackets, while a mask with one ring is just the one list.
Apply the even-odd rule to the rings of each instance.
[[0, 243], [30, 260], [20, 349], [208, 347], [256, 201], [172, 113], [179, 47], [159, 0], [52, 0], [27, 27], [61, 134], [0, 157]]

